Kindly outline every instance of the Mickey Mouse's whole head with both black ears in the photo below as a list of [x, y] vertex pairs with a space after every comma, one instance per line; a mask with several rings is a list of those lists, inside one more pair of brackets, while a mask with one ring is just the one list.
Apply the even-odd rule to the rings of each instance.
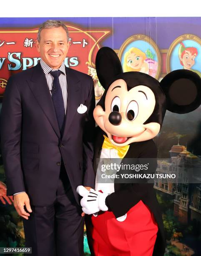
[[105, 92], [93, 115], [115, 146], [154, 138], [166, 110], [183, 114], [201, 104], [201, 79], [189, 70], [173, 71], [161, 82], [141, 72], [123, 73], [118, 56], [109, 47], [98, 51], [95, 64]]

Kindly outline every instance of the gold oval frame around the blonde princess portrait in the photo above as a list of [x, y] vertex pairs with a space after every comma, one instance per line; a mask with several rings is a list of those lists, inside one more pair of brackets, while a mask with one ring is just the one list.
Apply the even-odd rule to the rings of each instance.
[[161, 74], [161, 54], [160, 51], [158, 49], [157, 44], [148, 36], [143, 35], [143, 34], [135, 34], [133, 36], [130, 36], [129, 38], [127, 38], [123, 44], [121, 45], [120, 49], [119, 49], [119, 53], [118, 53], [118, 57], [121, 61], [121, 57], [123, 54], [123, 51], [125, 50], [126, 46], [128, 46], [128, 44], [130, 44], [133, 41], [137, 41], [137, 40], [142, 40], [147, 42], [148, 44], [151, 44], [151, 46], [154, 48], [154, 50], [156, 51], [157, 57], [158, 57], [158, 70], [156, 73], [156, 79], [158, 79], [160, 77]]

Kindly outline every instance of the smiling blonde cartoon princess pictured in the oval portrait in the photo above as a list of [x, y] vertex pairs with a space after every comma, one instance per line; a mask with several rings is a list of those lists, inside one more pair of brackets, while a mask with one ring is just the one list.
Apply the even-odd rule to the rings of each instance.
[[138, 71], [156, 77], [158, 62], [153, 59], [150, 50], [146, 53], [136, 47], [129, 49], [124, 55], [123, 71]]

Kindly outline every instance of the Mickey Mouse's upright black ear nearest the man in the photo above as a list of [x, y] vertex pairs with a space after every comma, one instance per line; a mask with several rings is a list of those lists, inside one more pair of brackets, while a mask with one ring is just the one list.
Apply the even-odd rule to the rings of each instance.
[[122, 73], [121, 62], [113, 49], [102, 47], [98, 50], [95, 58], [95, 68], [100, 84], [104, 89], [120, 73]]

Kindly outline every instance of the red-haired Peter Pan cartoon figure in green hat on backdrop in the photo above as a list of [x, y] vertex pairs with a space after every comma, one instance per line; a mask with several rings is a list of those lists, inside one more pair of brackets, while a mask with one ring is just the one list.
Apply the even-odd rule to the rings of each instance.
[[183, 66], [183, 69], [191, 70], [201, 77], [201, 72], [192, 69], [193, 65], [195, 64], [195, 59], [197, 55], [198, 50], [196, 49], [196, 47], [185, 47], [183, 42], [180, 43], [178, 49], [178, 56], [180, 59], [180, 63]]

